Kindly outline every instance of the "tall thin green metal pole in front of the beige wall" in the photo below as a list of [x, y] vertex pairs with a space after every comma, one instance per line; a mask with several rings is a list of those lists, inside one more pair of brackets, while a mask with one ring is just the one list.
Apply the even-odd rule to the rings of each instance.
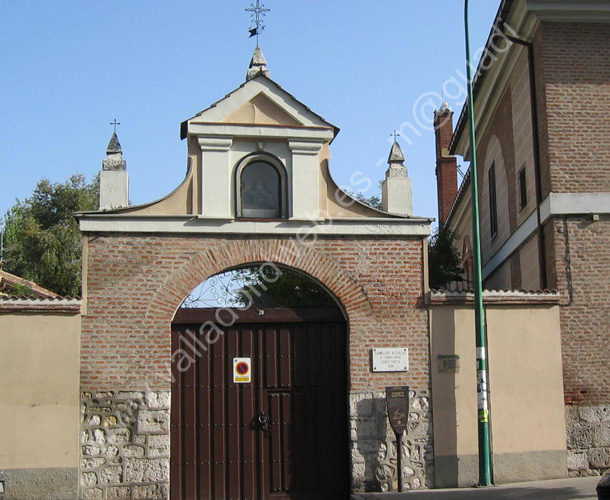
[[474, 253], [474, 311], [477, 345], [477, 402], [479, 420], [479, 486], [491, 486], [491, 453], [489, 446], [489, 403], [487, 398], [487, 339], [483, 312], [483, 279], [481, 272], [481, 235], [479, 225], [479, 185], [477, 145], [474, 126], [474, 95], [470, 61], [468, 0], [464, 4], [466, 27], [466, 75], [468, 79], [468, 124], [470, 129], [470, 186], [472, 193], [472, 246]]

